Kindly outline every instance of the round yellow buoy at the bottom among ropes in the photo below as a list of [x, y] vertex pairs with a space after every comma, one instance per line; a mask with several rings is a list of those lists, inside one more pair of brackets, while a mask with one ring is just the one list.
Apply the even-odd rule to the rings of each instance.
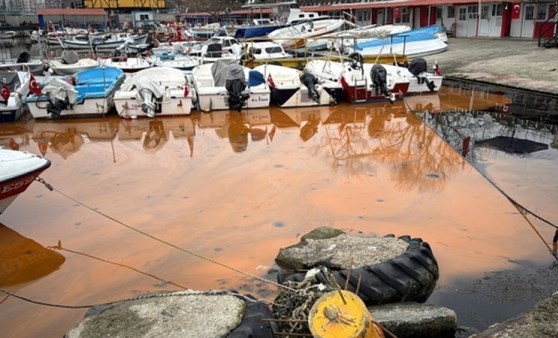
[[308, 326], [315, 338], [384, 338], [362, 299], [346, 290], [320, 297], [310, 310]]

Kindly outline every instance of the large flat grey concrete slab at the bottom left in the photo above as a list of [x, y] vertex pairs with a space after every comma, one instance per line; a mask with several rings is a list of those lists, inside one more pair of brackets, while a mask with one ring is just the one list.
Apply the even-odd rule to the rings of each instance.
[[[245, 298], [223, 291], [149, 294], [90, 309], [65, 337], [225, 337], [241, 326]], [[260, 336], [271, 337], [271, 329]]]

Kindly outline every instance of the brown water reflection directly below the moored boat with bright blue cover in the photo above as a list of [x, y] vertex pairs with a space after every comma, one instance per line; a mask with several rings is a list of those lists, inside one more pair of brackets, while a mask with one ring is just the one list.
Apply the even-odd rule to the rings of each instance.
[[33, 125], [33, 140], [46, 154], [52, 152], [67, 159], [91, 141], [112, 141], [118, 131], [118, 119], [91, 118], [78, 120], [36, 120]]

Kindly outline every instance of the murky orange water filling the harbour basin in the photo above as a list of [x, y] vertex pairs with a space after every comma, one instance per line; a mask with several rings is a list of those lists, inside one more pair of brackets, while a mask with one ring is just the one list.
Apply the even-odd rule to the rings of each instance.
[[[251, 276], [265, 277], [280, 248], [320, 226], [421, 237], [439, 262], [433, 296], [513, 261], [551, 262], [517, 209], [407, 108], [2, 124], [2, 144], [52, 161], [41, 176], [55, 191], [35, 182], [0, 222], [41, 246], [60, 242], [53, 250], [65, 258], [46, 276], [2, 287], [72, 306], [181, 288], [273, 299], [276, 286]], [[558, 183], [539, 182], [552, 168], [540, 161], [494, 175], [512, 191], [521, 180], [524, 201], [556, 219]], [[539, 231], [551, 240], [549, 228]], [[60, 337], [85, 313], [0, 301], [3, 337]]]

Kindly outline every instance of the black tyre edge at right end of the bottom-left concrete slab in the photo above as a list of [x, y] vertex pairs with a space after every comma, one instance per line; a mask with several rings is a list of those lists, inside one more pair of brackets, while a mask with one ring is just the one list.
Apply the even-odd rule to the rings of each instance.
[[275, 323], [265, 321], [273, 318], [271, 309], [262, 302], [244, 302], [246, 313], [242, 322], [227, 335], [227, 338], [273, 338], [273, 331], [277, 331]]

